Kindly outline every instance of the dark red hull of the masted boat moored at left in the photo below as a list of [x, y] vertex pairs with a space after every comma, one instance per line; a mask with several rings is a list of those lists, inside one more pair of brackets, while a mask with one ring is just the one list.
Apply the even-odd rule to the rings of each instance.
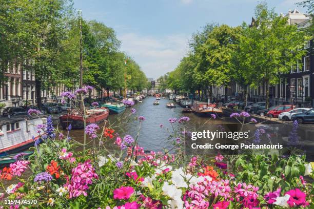
[[[91, 123], [101, 123], [108, 118], [109, 112], [104, 111], [100, 114], [92, 114], [86, 118], [86, 125]], [[63, 129], [71, 124], [72, 129], [84, 129], [84, 120], [81, 115], [63, 115], [60, 116], [60, 123]]]

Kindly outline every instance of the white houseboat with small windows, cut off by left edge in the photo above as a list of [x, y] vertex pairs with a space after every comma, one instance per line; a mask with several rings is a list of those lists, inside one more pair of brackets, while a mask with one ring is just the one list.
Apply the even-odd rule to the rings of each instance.
[[[34, 145], [38, 139], [37, 125], [46, 121], [41, 117], [30, 115], [16, 115], [1, 117], [0, 119], [0, 156], [7, 156], [26, 150]], [[33, 139], [33, 136], [34, 139]]]

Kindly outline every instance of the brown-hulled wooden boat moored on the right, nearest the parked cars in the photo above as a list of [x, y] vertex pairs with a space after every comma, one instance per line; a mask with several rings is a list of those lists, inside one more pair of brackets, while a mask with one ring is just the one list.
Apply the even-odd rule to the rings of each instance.
[[217, 108], [214, 104], [200, 101], [194, 101], [191, 110], [195, 115], [200, 117], [211, 117], [212, 114], [221, 117], [223, 114], [222, 108]]

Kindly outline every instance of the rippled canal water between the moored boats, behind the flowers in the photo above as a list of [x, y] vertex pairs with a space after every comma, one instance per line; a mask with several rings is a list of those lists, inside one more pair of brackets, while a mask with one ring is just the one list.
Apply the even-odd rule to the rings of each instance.
[[[176, 108], [166, 108], [166, 103], [170, 100], [168, 98], [161, 98], [159, 100], [160, 105], [153, 105], [155, 98], [148, 96], [143, 99], [142, 103], [136, 103], [133, 108], [136, 109], [136, 113], [130, 117], [144, 116], [145, 120], [142, 123], [138, 143], [140, 147], [143, 147], [144, 150], [148, 151], [163, 151], [163, 149], [171, 149], [172, 143], [168, 140], [169, 132], [168, 129], [172, 132], [171, 124], [169, 123], [169, 118], [179, 119], [182, 116], [188, 116], [190, 121], [187, 122], [186, 127], [188, 131], [203, 131], [217, 129], [219, 124], [234, 123], [233, 119], [229, 117], [222, 117], [219, 119], [209, 119], [199, 117], [193, 113], [182, 113], [183, 108], [177, 104]], [[130, 109], [124, 113], [117, 115], [109, 115], [109, 123], [113, 123], [117, 118], [124, 118], [130, 114]], [[160, 125], [163, 124], [163, 128], [160, 128]], [[134, 138], [139, 131], [139, 121], [138, 120], [122, 120], [120, 124], [115, 123], [114, 130], [121, 136], [124, 137], [126, 134], [133, 136]], [[103, 127], [103, 123], [100, 124], [100, 127]], [[70, 132], [71, 137], [75, 140], [83, 142], [83, 130], [72, 130]], [[110, 149], [113, 148], [112, 143], [106, 143], [106, 146]]]

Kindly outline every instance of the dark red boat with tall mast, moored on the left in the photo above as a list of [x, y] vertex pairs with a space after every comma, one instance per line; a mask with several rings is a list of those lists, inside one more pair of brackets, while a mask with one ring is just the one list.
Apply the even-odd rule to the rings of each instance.
[[[109, 115], [109, 110], [105, 107], [90, 109], [86, 112], [86, 125], [91, 123], [101, 123], [105, 121]], [[71, 124], [72, 129], [84, 129], [83, 116], [77, 111], [72, 111], [67, 115], [62, 115], [59, 119], [63, 129], [66, 129], [69, 124]]]

